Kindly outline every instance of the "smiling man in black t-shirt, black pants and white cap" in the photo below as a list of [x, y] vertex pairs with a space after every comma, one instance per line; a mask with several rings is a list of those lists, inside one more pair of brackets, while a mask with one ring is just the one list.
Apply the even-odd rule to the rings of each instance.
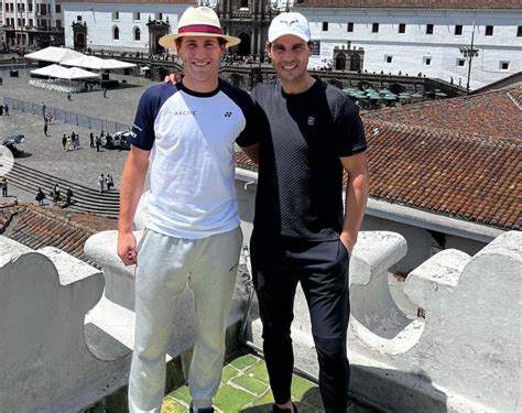
[[273, 412], [296, 412], [290, 327], [301, 282], [324, 407], [339, 413], [348, 404], [348, 263], [368, 196], [367, 145], [354, 102], [306, 70], [312, 51], [302, 14], [282, 13], [272, 21], [268, 52], [280, 79], [252, 91], [265, 113], [265, 129], [259, 133], [251, 258]]

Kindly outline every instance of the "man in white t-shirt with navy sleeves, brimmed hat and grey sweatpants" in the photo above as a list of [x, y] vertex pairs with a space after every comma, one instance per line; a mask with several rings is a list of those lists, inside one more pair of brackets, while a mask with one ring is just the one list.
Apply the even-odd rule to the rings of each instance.
[[[225, 35], [216, 13], [205, 7], [188, 8], [178, 28], [160, 44], [177, 50], [185, 77], [143, 94], [121, 180], [118, 256], [126, 265], [137, 264], [130, 412], [160, 412], [173, 309], [187, 282], [198, 332], [188, 379], [191, 411], [214, 411], [242, 243], [233, 146], [258, 140], [249, 95], [218, 78], [226, 47], [240, 40]], [[138, 247], [132, 220], [149, 164], [152, 195]]]

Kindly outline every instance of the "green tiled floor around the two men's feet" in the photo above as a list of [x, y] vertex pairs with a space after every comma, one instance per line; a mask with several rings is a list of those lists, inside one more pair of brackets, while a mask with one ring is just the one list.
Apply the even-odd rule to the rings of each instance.
[[[313, 382], [294, 374], [292, 399], [300, 413], [320, 413], [319, 389]], [[191, 395], [184, 385], [163, 400], [162, 413], [186, 413]], [[238, 356], [224, 368], [221, 385], [214, 399], [214, 407], [222, 413], [268, 413], [273, 403], [264, 361], [253, 355]], [[372, 413], [371, 410], [352, 405], [349, 413]]]

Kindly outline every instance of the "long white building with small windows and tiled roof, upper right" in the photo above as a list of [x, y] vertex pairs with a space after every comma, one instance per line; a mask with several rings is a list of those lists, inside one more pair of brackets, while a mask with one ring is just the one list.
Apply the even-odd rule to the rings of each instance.
[[522, 70], [522, 8], [515, 0], [304, 0], [311, 67], [426, 75], [475, 89]]

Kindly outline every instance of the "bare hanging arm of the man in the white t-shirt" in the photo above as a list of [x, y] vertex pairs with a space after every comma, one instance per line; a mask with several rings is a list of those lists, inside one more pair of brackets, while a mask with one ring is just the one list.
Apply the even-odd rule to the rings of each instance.
[[118, 256], [126, 265], [137, 263], [137, 242], [132, 233], [132, 221], [145, 183], [146, 171], [149, 170], [149, 155], [150, 151], [131, 146], [121, 177]]

